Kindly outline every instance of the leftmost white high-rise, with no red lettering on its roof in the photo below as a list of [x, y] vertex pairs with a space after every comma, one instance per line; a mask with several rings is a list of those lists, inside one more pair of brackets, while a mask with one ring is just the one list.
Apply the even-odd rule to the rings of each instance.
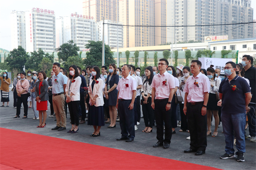
[[26, 49], [25, 12], [11, 12], [11, 33], [12, 49], [18, 48], [18, 46]]

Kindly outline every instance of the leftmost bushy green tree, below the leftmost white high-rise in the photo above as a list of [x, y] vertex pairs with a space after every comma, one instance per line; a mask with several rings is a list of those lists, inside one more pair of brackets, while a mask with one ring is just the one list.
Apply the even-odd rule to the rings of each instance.
[[18, 48], [14, 48], [12, 51], [10, 51], [8, 57], [5, 59], [5, 62], [7, 63], [9, 69], [17, 68], [19, 71], [22, 71], [22, 66], [25, 65], [27, 60], [28, 55], [26, 50], [21, 46], [18, 46]]

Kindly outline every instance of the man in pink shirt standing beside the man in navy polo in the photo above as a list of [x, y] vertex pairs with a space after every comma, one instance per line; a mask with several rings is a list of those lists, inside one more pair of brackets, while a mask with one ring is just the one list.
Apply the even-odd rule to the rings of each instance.
[[190, 69], [193, 76], [190, 76], [184, 88], [185, 100], [183, 112], [187, 115], [190, 133], [190, 148], [185, 153], [196, 152], [195, 155], [205, 153], [207, 146], [207, 119], [206, 105], [210, 92], [210, 81], [200, 72], [202, 63], [199, 60], [192, 60]]

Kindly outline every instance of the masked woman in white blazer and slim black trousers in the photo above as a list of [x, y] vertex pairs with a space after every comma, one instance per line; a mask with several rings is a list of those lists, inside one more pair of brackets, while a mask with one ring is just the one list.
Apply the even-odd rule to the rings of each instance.
[[71, 65], [69, 67], [68, 83], [65, 89], [67, 97], [66, 102], [68, 103], [68, 110], [72, 125], [72, 128], [68, 131], [68, 133], [76, 133], [79, 130], [78, 108], [80, 102], [81, 83], [82, 80], [79, 77], [77, 67], [75, 65]]

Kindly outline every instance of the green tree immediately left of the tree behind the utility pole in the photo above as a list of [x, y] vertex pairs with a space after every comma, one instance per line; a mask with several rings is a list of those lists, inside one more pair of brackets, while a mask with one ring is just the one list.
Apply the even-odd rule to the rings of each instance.
[[58, 52], [59, 62], [63, 64], [64, 69], [68, 69], [68, 57], [76, 56], [80, 48], [76, 46], [76, 43], [74, 43], [73, 40], [69, 40], [55, 50]]

